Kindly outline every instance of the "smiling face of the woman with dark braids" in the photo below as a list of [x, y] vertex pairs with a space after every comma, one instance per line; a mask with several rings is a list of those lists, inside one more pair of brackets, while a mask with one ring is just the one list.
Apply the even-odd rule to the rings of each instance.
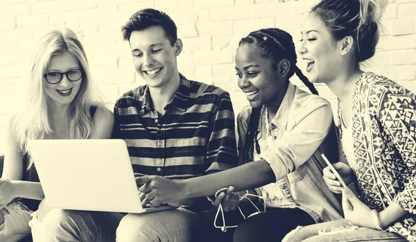
[[281, 99], [278, 94], [283, 89], [286, 92], [286, 82], [279, 78], [277, 67], [270, 60], [261, 57], [254, 44], [239, 46], [235, 62], [239, 87], [252, 107], [268, 105]]

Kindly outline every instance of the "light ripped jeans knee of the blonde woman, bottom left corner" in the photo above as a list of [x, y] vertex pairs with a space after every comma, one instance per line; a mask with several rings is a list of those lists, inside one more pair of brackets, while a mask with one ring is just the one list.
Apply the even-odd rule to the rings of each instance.
[[31, 235], [32, 211], [22, 202], [9, 203], [0, 211], [0, 242], [15, 242]]

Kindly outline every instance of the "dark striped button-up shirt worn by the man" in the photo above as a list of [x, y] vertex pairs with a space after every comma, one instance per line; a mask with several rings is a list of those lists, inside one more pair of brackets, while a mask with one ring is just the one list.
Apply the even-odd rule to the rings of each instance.
[[126, 142], [135, 176], [184, 179], [238, 164], [227, 92], [180, 75], [165, 114], [159, 116], [150, 98], [144, 85], [123, 94], [114, 106], [113, 138]]

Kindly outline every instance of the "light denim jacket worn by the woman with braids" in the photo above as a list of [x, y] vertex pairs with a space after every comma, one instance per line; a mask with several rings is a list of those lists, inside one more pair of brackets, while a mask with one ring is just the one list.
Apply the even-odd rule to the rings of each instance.
[[[266, 111], [265, 107], [262, 109]], [[244, 107], [237, 118], [240, 164], [247, 162], [243, 147], [251, 110]], [[265, 114], [263, 110], [261, 115]], [[263, 128], [266, 127], [259, 121], [259, 135], [267, 133], [262, 132]], [[306, 211], [316, 223], [343, 218], [340, 202], [322, 179], [326, 164], [320, 153], [338, 162], [338, 142], [329, 102], [289, 83], [270, 123], [270, 132], [275, 139], [274, 147], [259, 156], [270, 164], [286, 200]], [[255, 138], [259, 139], [259, 135]]]

